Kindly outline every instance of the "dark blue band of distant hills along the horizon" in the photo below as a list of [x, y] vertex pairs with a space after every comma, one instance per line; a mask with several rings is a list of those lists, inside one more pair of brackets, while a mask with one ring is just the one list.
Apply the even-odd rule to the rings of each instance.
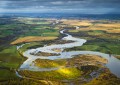
[[120, 20], [120, 14], [70, 14], [70, 13], [4, 13], [0, 17], [39, 17], [70, 19], [110, 19]]

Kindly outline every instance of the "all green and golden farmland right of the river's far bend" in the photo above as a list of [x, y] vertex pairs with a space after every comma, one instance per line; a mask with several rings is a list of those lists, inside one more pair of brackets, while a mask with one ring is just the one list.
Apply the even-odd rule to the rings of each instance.
[[120, 22], [104, 20], [91, 21], [91, 23], [93, 24], [91, 26], [68, 31], [75, 37], [87, 39], [87, 42], [83, 46], [66, 49], [66, 51], [90, 50], [120, 55]]

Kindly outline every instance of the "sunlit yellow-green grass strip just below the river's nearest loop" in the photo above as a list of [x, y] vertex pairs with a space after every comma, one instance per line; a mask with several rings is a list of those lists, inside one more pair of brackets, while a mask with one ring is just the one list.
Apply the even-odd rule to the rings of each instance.
[[34, 79], [48, 79], [48, 80], [70, 80], [81, 76], [82, 72], [76, 68], [60, 68], [55, 71], [20, 71], [21, 75]]

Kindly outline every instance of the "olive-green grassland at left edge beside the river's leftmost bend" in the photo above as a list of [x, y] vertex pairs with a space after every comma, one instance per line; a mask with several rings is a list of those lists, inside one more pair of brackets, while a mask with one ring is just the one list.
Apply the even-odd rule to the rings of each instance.
[[16, 46], [3, 49], [0, 52], [0, 80], [7, 82], [9, 79], [18, 79], [14, 69], [18, 69], [24, 60], [25, 58], [16, 50]]

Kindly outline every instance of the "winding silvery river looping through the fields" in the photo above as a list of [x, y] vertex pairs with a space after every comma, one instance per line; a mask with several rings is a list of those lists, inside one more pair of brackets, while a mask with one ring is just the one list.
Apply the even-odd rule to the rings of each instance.
[[[75, 38], [72, 35], [69, 35], [67, 33], [64, 33], [65, 30], [60, 31], [61, 34], [66, 35], [62, 38], [62, 40], [72, 40], [74, 42], [71, 43], [65, 43], [65, 44], [53, 44], [48, 45], [44, 47], [38, 47], [36, 49], [29, 49], [23, 53], [23, 56], [27, 57], [28, 59], [23, 62], [23, 64], [20, 66], [18, 70], [31, 70], [31, 71], [51, 71], [51, 70], [57, 70], [61, 67], [57, 68], [40, 68], [34, 65], [33, 61], [36, 59], [66, 59], [66, 58], [72, 58], [75, 55], [79, 54], [92, 54], [92, 55], [98, 55], [103, 58], [106, 58], [108, 60], [108, 63], [105, 65], [109, 70], [115, 74], [117, 77], [120, 77], [120, 60], [115, 58], [114, 56], [110, 56], [109, 54], [101, 53], [101, 52], [94, 52], [94, 51], [70, 51], [70, 52], [63, 52], [66, 48], [72, 48], [77, 46], [82, 46], [84, 43], [87, 42], [85, 39]], [[23, 46], [23, 45], [22, 45]], [[22, 47], [19, 46], [19, 47]], [[17, 47], [17, 48], [19, 48]], [[60, 49], [60, 52], [56, 52], [53, 49]], [[60, 54], [59, 56], [36, 56], [32, 55], [31, 53], [38, 53], [38, 52], [46, 52], [46, 53], [55, 53]], [[18, 75], [19, 76], [19, 75]]]

